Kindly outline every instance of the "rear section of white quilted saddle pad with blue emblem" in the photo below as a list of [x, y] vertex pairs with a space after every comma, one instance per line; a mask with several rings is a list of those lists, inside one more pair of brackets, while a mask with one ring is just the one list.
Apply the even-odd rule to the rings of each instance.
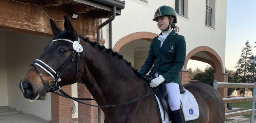
[[184, 94], [180, 94], [180, 100], [186, 121], [197, 120], [199, 117], [199, 107], [193, 94], [185, 90]]

